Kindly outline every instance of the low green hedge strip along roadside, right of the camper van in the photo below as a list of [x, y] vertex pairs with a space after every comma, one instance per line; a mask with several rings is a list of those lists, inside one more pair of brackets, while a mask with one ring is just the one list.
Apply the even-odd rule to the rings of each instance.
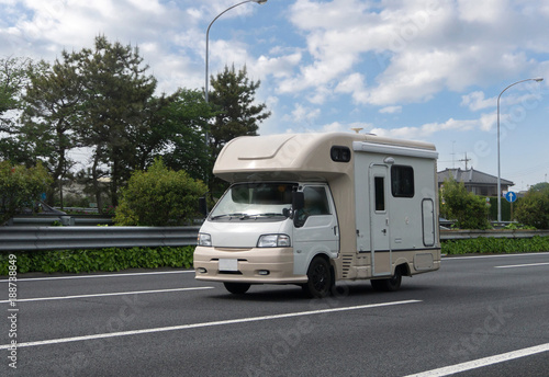
[[549, 237], [534, 238], [473, 238], [444, 241], [442, 254], [512, 254], [549, 251]]

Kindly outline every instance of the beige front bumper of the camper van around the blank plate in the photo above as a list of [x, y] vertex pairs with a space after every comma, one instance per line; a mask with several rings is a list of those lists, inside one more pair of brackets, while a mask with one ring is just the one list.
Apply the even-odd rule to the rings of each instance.
[[[236, 260], [236, 271], [220, 271], [220, 259]], [[293, 248], [197, 247], [193, 266], [199, 281], [250, 284], [303, 284], [307, 282], [306, 275], [293, 274]], [[203, 270], [205, 272], [202, 272]]]

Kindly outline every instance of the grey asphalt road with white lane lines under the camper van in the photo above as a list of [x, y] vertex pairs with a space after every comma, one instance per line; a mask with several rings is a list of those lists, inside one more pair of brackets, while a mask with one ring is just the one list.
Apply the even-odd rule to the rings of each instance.
[[338, 288], [311, 300], [295, 286], [234, 296], [184, 270], [20, 275], [14, 307], [0, 282], [0, 376], [549, 375], [549, 253], [447, 258], [396, 293]]

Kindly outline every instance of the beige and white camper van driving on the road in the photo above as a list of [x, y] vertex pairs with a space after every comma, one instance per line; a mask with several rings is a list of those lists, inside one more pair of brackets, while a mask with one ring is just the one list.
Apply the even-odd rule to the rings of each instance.
[[233, 294], [337, 281], [396, 290], [440, 266], [435, 146], [374, 135], [238, 137], [213, 173], [231, 186], [202, 225], [195, 277]]

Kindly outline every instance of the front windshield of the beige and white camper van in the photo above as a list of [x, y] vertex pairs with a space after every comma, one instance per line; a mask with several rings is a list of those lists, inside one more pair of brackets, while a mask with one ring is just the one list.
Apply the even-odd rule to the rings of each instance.
[[220, 199], [210, 219], [258, 219], [287, 215], [292, 205], [295, 183], [242, 183], [235, 184]]

